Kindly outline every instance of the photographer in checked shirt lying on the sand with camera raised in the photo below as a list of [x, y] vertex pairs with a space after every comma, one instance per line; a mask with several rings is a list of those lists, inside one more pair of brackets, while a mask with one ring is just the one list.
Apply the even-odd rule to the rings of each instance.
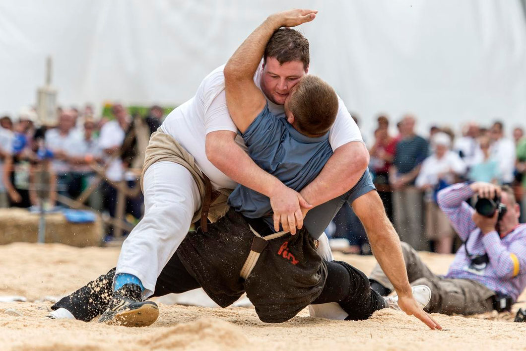
[[[476, 209], [466, 203], [478, 196]], [[438, 276], [402, 243], [411, 285], [431, 288], [429, 313], [471, 315], [510, 310], [526, 287], [526, 225], [519, 223], [519, 205], [509, 186], [460, 183], [440, 190], [438, 205], [462, 239], [446, 276]], [[392, 290], [377, 265], [371, 288], [380, 295]]]

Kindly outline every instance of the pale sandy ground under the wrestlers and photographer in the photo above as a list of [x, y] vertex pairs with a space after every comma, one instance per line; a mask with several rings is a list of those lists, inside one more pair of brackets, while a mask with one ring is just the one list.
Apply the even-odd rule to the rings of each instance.
[[[381, 310], [369, 320], [311, 318], [307, 310], [282, 324], [259, 321], [252, 308], [206, 308], [160, 304], [148, 328], [50, 320], [51, 302], [112, 268], [118, 248], [75, 248], [60, 244], [0, 246], [0, 297], [22, 295], [28, 302], [0, 303], [0, 349], [525, 349], [526, 325], [511, 314], [465, 318], [436, 314], [444, 330], [433, 331], [401, 312]], [[369, 273], [372, 257], [337, 255]], [[452, 256], [422, 254], [436, 273]], [[523, 294], [520, 300], [526, 299]], [[514, 306], [518, 309], [519, 304]], [[524, 306], [524, 304], [521, 304]], [[513, 314], [514, 315], [514, 314]], [[489, 319], [484, 319], [489, 318]]]

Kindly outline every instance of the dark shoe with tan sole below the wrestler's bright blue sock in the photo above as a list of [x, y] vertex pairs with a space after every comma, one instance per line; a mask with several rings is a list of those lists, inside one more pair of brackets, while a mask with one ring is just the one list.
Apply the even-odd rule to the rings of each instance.
[[108, 308], [100, 316], [99, 323], [126, 327], [147, 327], [159, 317], [159, 307], [153, 301], [142, 301], [140, 286], [124, 284], [113, 293]]

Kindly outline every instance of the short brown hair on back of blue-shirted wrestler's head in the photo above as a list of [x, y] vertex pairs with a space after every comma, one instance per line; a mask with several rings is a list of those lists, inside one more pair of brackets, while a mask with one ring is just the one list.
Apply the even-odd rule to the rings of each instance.
[[329, 131], [338, 113], [338, 96], [321, 78], [303, 76], [288, 104], [298, 132], [319, 136]]

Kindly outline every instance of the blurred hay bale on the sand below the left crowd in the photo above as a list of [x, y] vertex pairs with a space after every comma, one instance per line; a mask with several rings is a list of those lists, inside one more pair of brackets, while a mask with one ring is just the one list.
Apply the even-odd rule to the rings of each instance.
[[[0, 244], [38, 241], [39, 214], [23, 208], [0, 208]], [[70, 223], [62, 213], [46, 214], [46, 243], [85, 247], [100, 246], [103, 224], [100, 216], [93, 223]]]

